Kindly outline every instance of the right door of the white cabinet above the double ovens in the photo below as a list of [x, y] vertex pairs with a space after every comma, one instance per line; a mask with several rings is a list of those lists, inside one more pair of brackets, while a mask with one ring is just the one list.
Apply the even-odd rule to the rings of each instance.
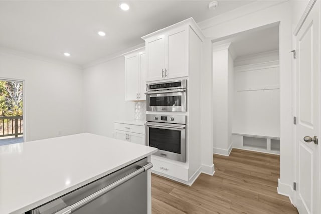
[[166, 34], [166, 78], [188, 76], [188, 31], [178, 28]]

